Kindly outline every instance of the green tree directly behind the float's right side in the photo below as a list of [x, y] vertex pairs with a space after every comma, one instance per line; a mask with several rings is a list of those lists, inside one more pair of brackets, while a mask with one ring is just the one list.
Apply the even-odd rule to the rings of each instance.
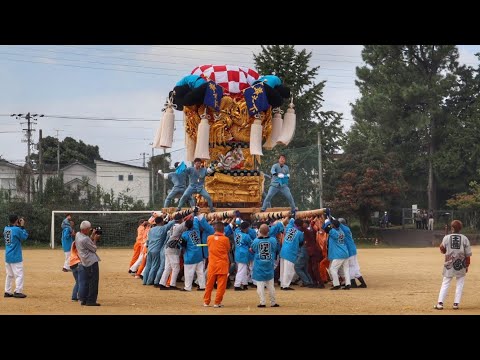
[[[301, 209], [317, 208], [319, 203], [317, 133], [321, 134], [322, 154], [327, 159], [324, 163], [326, 171], [330, 157], [325, 155], [337, 151], [343, 137], [342, 114], [321, 110], [326, 81], [316, 81], [320, 67], [310, 66], [311, 57], [311, 52], [305, 49], [297, 51], [293, 45], [262, 46], [262, 51], [254, 54], [260, 74], [275, 74], [290, 88], [297, 121], [295, 136], [287, 149], [276, 146], [272, 151], [265, 151], [260, 168], [269, 174], [278, 156], [285, 153], [291, 168], [290, 190]], [[282, 110], [288, 108], [288, 103], [284, 103]], [[276, 206], [279, 201], [284, 200], [274, 198], [272, 205]]]

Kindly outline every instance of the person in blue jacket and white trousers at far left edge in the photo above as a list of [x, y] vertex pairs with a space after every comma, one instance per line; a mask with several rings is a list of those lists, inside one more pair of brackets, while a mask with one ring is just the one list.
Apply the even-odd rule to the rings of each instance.
[[[26, 298], [23, 293], [23, 257], [22, 241], [27, 240], [28, 232], [25, 230], [25, 219], [18, 215], [9, 216], [10, 225], [3, 229], [5, 239], [5, 279], [4, 297]], [[12, 292], [12, 282], [15, 279], [15, 292]]]

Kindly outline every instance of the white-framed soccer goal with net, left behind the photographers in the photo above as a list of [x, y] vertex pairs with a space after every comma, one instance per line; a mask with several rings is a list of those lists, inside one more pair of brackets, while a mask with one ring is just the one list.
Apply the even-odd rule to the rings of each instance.
[[101, 226], [103, 229], [102, 239], [99, 243], [105, 247], [133, 246], [137, 237], [138, 221], [147, 219], [153, 211], [52, 211], [52, 223], [50, 232], [50, 247], [52, 249], [62, 245], [62, 221], [66, 214], [72, 215], [75, 222], [75, 230], [80, 231], [80, 224], [88, 220], [92, 227]]

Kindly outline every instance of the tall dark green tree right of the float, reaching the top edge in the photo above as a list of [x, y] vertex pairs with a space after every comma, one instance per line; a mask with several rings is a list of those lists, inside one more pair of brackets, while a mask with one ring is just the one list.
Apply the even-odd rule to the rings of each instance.
[[[355, 120], [381, 128], [384, 149], [397, 152], [412, 190], [427, 189], [437, 205], [435, 156], [448, 121], [446, 101], [457, 86], [458, 49], [453, 45], [367, 45], [357, 68], [361, 98]], [[420, 194], [415, 194], [416, 196]]]

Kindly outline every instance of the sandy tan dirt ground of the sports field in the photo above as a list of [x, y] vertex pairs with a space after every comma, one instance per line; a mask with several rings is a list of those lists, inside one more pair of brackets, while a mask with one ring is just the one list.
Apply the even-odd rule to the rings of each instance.
[[[438, 248], [359, 249], [367, 289], [329, 291], [294, 286], [295, 291], [280, 291], [276, 287], [277, 302], [281, 306], [261, 309], [257, 308], [255, 290], [227, 290], [223, 299], [225, 307], [214, 309], [202, 306], [203, 292], [160, 291], [153, 286], [143, 286], [141, 280], [127, 273], [132, 251], [126, 249], [99, 249], [102, 261], [98, 302], [101, 306], [80, 306], [70, 300], [74, 279], [71, 273], [61, 271], [62, 250], [24, 249], [27, 298], [1, 297], [0, 314], [480, 314], [477, 296], [480, 266], [475, 262], [479, 252], [480, 246], [474, 246], [460, 310], [451, 309], [453, 284], [445, 310], [438, 311], [433, 309], [442, 281], [443, 255]], [[0, 257], [4, 259], [4, 256], [2, 249]]]

